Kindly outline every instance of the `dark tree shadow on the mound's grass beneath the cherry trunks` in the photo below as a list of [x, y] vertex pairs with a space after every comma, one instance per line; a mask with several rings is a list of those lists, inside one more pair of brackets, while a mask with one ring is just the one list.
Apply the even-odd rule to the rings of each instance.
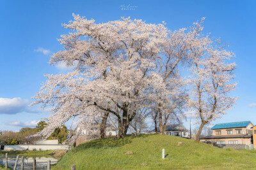
[[[114, 148], [118, 146], [124, 146], [126, 144], [132, 143], [134, 138], [147, 138], [152, 134], [141, 134], [140, 136], [131, 136], [127, 135], [125, 138], [106, 138], [106, 139], [95, 139], [93, 141], [88, 141], [76, 147], [77, 150], [86, 149], [86, 148]], [[154, 135], [154, 134], [153, 134]]]

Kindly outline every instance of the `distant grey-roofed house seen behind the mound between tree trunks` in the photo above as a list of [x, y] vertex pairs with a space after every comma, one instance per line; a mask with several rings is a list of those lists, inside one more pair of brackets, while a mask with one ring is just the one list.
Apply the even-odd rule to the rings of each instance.
[[[154, 133], [155, 131], [152, 132]], [[159, 128], [157, 128], [157, 132], [160, 132]], [[179, 136], [182, 138], [190, 138], [190, 131], [188, 131], [183, 125], [180, 124], [166, 125], [164, 134], [170, 136]]]

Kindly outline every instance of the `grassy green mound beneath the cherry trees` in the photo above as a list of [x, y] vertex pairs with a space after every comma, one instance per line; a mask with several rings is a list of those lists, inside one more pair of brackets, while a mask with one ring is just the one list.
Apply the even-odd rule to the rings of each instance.
[[[178, 146], [178, 142], [183, 145]], [[72, 164], [76, 169], [256, 169], [256, 152], [224, 150], [189, 139], [150, 134], [83, 143], [52, 169], [70, 169]]]

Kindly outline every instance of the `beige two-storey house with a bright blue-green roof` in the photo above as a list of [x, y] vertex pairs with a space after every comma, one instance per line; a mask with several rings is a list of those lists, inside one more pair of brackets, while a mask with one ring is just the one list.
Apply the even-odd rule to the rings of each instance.
[[216, 124], [211, 128], [212, 135], [201, 137], [200, 141], [221, 148], [252, 149], [252, 128], [250, 121]]

